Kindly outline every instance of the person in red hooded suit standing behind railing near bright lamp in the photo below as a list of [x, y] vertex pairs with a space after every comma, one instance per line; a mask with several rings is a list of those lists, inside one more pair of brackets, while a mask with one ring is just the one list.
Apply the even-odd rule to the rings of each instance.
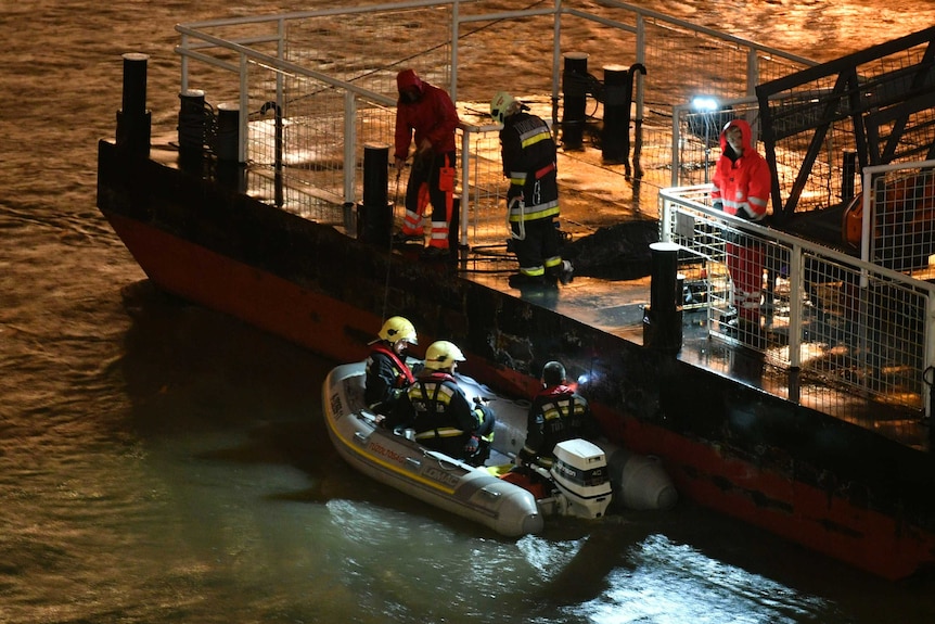
[[[763, 220], [769, 201], [771, 176], [766, 158], [756, 151], [750, 124], [744, 119], [728, 122], [720, 135], [720, 148], [721, 155], [712, 180], [714, 206], [742, 219]], [[756, 241], [729, 240], [726, 252], [738, 321], [758, 329], [763, 247]]]

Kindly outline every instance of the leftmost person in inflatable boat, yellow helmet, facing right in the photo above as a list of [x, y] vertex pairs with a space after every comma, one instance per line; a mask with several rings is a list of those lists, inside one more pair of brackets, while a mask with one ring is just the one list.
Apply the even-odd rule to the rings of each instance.
[[407, 318], [390, 317], [380, 328], [379, 338], [370, 343], [363, 382], [363, 399], [371, 410], [389, 413], [415, 381], [406, 365], [406, 349], [417, 344], [415, 327]]

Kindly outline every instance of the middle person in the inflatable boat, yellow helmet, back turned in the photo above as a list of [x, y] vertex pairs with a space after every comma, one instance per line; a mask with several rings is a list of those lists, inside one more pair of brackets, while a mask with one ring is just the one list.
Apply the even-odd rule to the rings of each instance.
[[454, 344], [437, 341], [425, 351], [425, 368], [397, 404], [397, 425], [410, 428], [415, 440], [471, 466], [483, 466], [490, 456], [494, 411], [472, 404], [452, 377], [464, 361]]

